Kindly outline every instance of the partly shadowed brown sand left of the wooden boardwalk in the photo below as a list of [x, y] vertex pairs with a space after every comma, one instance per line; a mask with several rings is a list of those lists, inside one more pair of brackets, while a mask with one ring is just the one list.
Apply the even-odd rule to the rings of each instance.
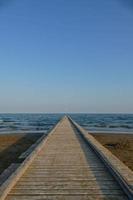
[[0, 135], [0, 174], [17, 162], [18, 157], [26, 151], [42, 134], [8, 134]]

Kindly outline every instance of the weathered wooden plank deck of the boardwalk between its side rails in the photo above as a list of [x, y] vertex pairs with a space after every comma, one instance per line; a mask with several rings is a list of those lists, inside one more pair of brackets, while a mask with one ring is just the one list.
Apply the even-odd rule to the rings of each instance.
[[127, 200], [123, 189], [64, 117], [6, 200]]

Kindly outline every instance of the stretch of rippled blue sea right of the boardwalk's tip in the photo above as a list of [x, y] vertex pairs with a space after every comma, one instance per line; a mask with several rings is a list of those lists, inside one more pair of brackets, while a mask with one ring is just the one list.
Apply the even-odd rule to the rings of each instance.
[[71, 117], [89, 131], [133, 133], [133, 114], [72, 114]]

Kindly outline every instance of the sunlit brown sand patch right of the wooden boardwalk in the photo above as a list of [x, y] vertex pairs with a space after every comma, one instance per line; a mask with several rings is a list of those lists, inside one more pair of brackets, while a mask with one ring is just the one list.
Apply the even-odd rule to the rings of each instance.
[[133, 134], [92, 134], [101, 144], [133, 170]]

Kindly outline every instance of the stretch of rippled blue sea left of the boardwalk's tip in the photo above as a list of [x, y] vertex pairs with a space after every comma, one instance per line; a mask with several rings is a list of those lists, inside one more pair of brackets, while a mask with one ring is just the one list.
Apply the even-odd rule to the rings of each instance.
[[0, 133], [47, 133], [62, 116], [62, 114], [0, 114]]

